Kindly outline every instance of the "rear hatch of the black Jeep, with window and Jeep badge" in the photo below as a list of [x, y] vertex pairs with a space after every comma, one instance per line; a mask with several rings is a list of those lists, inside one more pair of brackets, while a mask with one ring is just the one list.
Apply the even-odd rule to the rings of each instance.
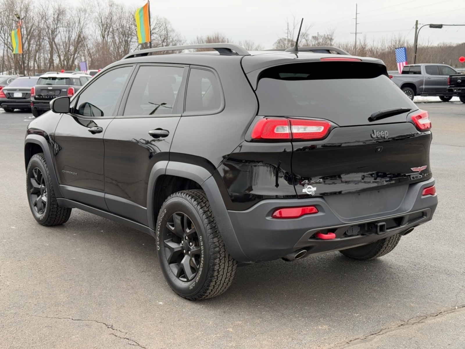
[[[383, 210], [390, 211], [401, 204], [408, 184], [431, 178], [431, 132], [420, 132], [412, 120], [429, 121], [427, 113], [389, 79], [383, 64], [293, 63], [267, 68], [258, 79], [258, 114], [286, 118], [292, 129], [292, 175], [299, 198], [324, 196], [328, 203], [335, 201], [332, 207], [341, 207], [342, 216], [343, 207], [359, 201], [368, 211], [373, 200], [389, 201]], [[379, 113], [386, 109], [398, 110]], [[327, 130], [296, 139], [294, 132], [305, 134], [313, 121], [323, 122]], [[373, 189], [376, 195], [368, 193]]]

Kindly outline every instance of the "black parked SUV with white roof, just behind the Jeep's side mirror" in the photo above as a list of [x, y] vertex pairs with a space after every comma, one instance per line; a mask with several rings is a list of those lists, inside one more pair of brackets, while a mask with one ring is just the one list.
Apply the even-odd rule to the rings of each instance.
[[90, 79], [90, 75], [80, 72], [41, 75], [36, 86], [30, 91], [32, 114], [38, 117], [50, 110], [50, 101], [53, 98], [72, 97]]

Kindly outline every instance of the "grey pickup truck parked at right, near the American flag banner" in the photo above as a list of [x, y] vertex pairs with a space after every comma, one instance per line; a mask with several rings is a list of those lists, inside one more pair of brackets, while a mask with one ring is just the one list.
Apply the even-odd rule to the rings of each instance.
[[447, 91], [447, 80], [453, 74], [458, 72], [445, 64], [409, 64], [402, 74], [390, 78], [411, 100], [415, 96], [438, 96], [447, 102], [457, 95]]

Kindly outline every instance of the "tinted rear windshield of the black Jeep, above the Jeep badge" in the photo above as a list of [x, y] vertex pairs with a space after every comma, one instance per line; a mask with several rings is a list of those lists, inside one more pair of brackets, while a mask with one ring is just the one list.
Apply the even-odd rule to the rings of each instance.
[[416, 110], [385, 74], [384, 65], [365, 62], [294, 63], [268, 68], [259, 75], [259, 115], [306, 116], [348, 126], [367, 124], [368, 117], [381, 109]]

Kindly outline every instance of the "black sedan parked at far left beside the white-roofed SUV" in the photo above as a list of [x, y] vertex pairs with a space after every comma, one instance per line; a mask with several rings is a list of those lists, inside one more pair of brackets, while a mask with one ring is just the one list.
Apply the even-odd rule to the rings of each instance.
[[37, 82], [35, 76], [19, 77], [11, 81], [0, 91], [0, 106], [7, 113], [14, 109], [31, 110], [31, 87]]

